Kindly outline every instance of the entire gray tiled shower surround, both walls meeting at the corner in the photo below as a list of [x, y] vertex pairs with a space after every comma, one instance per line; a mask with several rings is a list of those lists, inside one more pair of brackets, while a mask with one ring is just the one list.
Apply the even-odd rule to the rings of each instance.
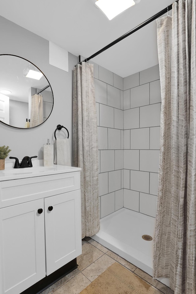
[[155, 217], [160, 141], [159, 67], [119, 77], [94, 64], [100, 217], [122, 207]]

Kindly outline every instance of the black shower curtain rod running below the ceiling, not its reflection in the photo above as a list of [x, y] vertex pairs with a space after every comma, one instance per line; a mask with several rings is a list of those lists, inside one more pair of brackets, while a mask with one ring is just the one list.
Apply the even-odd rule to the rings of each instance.
[[[178, 2], [179, 0], [176, 0], [175, 2]], [[142, 22], [140, 25], [138, 25], [137, 27], [133, 28], [132, 30], [130, 30], [129, 32], [127, 32], [126, 34], [124, 34], [123, 36], [119, 37], [118, 39], [116, 39], [115, 41], [111, 42], [110, 44], [108, 44], [107, 46], [105, 46], [104, 48], [102, 48], [101, 50], [97, 51], [95, 54], [91, 55], [90, 57], [84, 59], [84, 62], [89, 61], [90, 59], [92, 59], [93, 57], [99, 55], [100, 53], [104, 52], [105, 50], [107, 50], [108, 48], [112, 47], [113, 45], [115, 45], [116, 43], [122, 41], [123, 39], [125, 39], [126, 37], [130, 36], [131, 34], [133, 34], [134, 32], [138, 31], [140, 28], [143, 28], [145, 25], [148, 25], [150, 22], [154, 21], [156, 18], [160, 17], [161, 15], [163, 15], [164, 13], [167, 13], [168, 11], [170, 11], [172, 9], [172, 4], [169, 5], [168, 7], [166, 7], [165, 9], [161, 10], [160, 12], [156, 13], [155, 15], [153, 15], [152, 17], [150, 17], [147, 21]], [[81, 60], [80, 60], [80, 56], [79, 56], [79, 63], [81, 64]]]

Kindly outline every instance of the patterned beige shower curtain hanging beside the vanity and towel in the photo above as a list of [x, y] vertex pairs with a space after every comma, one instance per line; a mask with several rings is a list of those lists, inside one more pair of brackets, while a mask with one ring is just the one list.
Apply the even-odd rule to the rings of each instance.
[[93, 64], [74, 68], [73, 158], [81, 170], [82, 238], [99, 231], [99, 162]]

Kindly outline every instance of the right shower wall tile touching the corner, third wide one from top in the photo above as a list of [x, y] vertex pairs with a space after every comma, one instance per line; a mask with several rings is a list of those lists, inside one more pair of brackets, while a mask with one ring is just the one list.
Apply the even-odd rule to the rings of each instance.
[[124, 150], [124, 168], [139, 170], [139, 150]]

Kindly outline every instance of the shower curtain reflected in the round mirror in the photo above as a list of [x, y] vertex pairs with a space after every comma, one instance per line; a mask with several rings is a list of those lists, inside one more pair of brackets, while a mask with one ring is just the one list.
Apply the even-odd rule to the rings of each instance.
[[43, 123], [43, 97], [41, 94], [35, 94], [31, 97], [30, 128], [40, 123]]

